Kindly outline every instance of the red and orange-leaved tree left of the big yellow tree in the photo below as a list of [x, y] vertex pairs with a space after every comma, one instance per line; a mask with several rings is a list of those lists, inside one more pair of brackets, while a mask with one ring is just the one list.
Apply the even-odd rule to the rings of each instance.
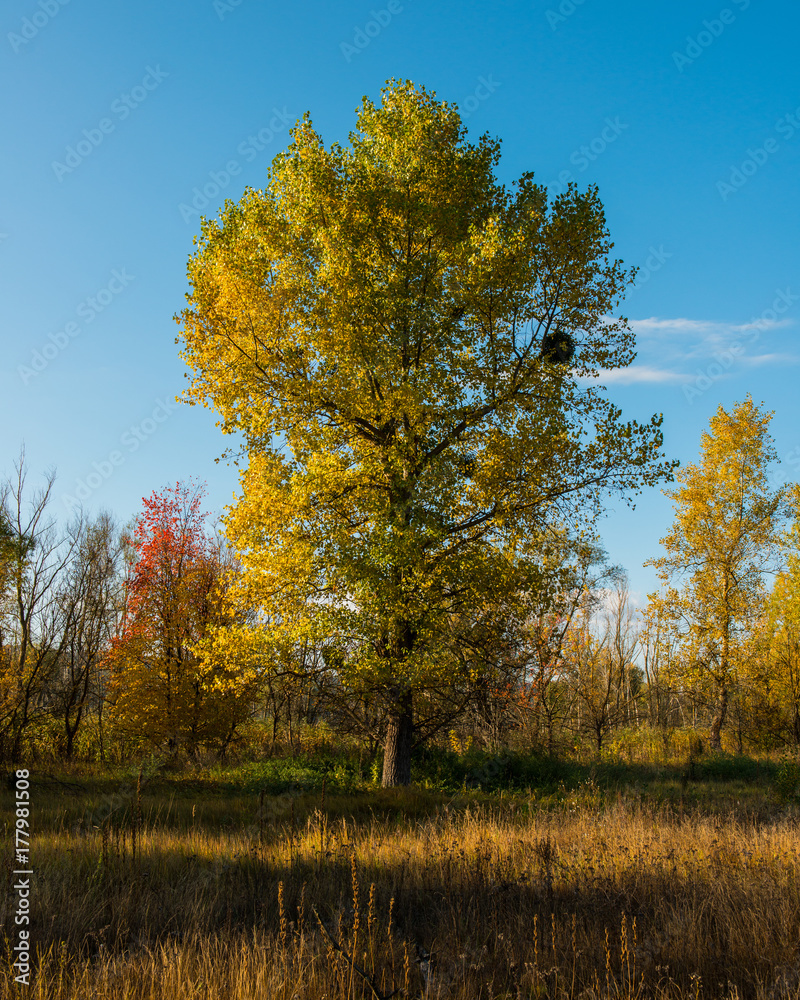
[[126, 606], [108, 665], [121, 733], [164, 748], [224, 750], [248, 718], [252, 686], [198, 645], [246, 616], [232, 607], [236, 564], [207, 533], [201, 487], [177, 483], [143, 498], [130, 539]]

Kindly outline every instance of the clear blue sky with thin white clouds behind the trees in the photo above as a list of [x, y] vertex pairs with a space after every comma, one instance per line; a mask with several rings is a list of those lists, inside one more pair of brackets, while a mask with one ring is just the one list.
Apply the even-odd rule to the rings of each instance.
[[[500, 137], [503, 181], [599, 185], [615, 252], [641, 268], [622, 307], [639, 356], [607, 383], [625, 415], [663, 412], [686, 463], [751, 392], [797, 478], [794, 4], [11, 0], [0, 28], [0, 475], [24, 442], [34, 480], [57, 469], [59, 515], [81, 493], [124, 521], [190, 477], [210, 508], [231, 501], [213, 415], [174, 402], [199, 212], [263, 186], [306, 110], [346, 141], [390, 77]], [[651, 490], [602, 524], [639, 594], [670, 520]]]

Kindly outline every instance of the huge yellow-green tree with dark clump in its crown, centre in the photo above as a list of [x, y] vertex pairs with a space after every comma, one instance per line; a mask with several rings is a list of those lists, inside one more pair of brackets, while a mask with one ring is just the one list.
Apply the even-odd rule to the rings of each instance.
[[227, 532], [264, 648], [340, 640], [341, 676], [386, 706], [384, 784], [404, 784], [448, 616], [535, 587], [521, 540], [672, 466], [661, 418], [623, 423], [585, 379], [634, 356], [596, 189], [507, 190], [499, 143], [410, 82], [364, 98], [347, 147], [308, 115], [292, 140], [203, 223], [186, 395], [246, 441]]

